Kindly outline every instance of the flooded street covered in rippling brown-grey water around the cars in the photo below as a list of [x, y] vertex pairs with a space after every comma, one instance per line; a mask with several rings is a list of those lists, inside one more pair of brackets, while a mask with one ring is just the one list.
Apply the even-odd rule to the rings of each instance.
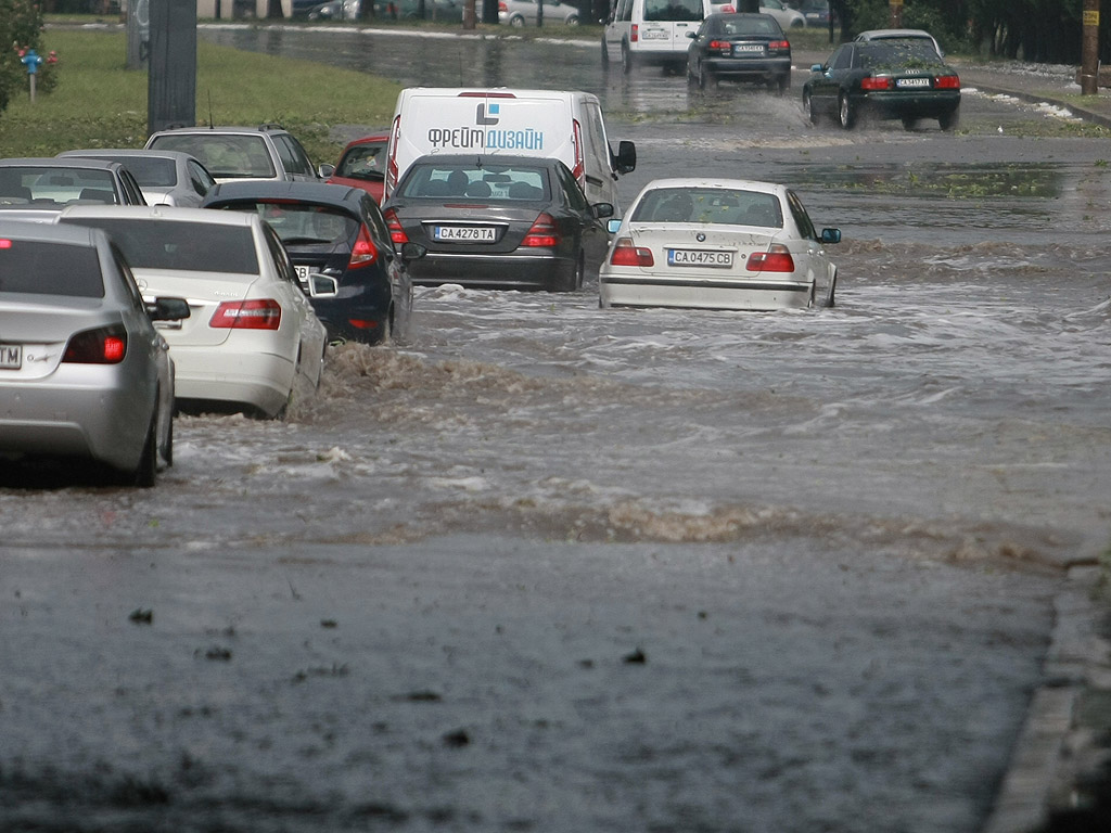
[[0, 829], [974, 833], [1111, 526], [1105, 139], [969, 89], [957, 134], [844, 133], [799, 76], [202, 37], [593, 89], [625, 204], [789, 182], [838, 305], [422, 289], [284, 422], [179, 418], [154, 490], [7, 476]]

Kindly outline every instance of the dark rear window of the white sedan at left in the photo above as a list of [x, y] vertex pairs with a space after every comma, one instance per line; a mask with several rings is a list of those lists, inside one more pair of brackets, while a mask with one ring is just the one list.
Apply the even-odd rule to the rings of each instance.
[[74, 217], [67, 220], [109, 233], [133, 269], [258, 274], [254, 238], [246, 225]]

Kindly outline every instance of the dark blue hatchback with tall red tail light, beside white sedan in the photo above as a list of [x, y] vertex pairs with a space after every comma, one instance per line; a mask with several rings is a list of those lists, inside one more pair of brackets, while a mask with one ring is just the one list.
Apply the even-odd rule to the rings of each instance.
[[333, 342], [377, 343], [403, 333], [412, 309], [409, 261], [418, 245], [394, 251], [374, 198], [323, 182], [224, 182], [201, 208], [257, 211], [289, 252], [302, 288], [310, 275], [336, 281], [333, 297], [313, 297]]

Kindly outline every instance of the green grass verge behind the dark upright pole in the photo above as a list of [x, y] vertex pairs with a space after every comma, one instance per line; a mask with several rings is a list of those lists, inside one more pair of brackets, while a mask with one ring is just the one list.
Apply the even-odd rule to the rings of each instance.
[[[52, 157], [71, 148], [141, 148], [147, 141], [147, 72], [128, 70], [120, 31], [48, 29], [59, 56], [58, 89], [30, 102], [12, 96], [0, 113], [6, 157]], [[197, 44], [197, 122], [278, 122], [313, 162], [334, 162], [334, 124], [387, 124], [400, 84], [308, 61]]]

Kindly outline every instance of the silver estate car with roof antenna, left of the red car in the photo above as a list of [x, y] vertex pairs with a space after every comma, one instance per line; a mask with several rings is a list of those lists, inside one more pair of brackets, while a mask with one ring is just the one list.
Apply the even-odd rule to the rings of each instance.
[[171, 128], [151, 133], [148, 150], [178, 150], [201, 161], [217, 182], [277, 179], [314, 182], [332, 173], [314, 169], [301, 142], [280, 124]]

